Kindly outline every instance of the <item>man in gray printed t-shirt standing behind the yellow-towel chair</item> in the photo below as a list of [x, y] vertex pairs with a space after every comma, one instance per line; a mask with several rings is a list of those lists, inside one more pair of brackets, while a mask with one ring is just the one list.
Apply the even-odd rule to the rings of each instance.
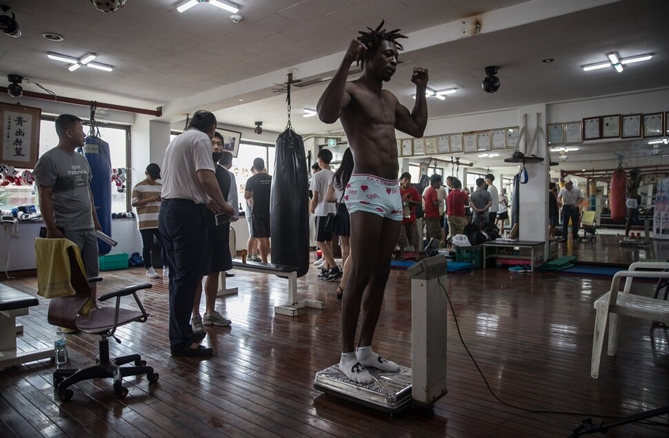
[[[88, 160], [74, 149], [83, 146], [81, 118], [62, 114], [56, 118], [58, 145], [43, 154], [34, 168], [39, 210], [47, 238], [66, 238], [81, 249], [88, 277], [99, 273], [96, 230], [101, 229], [90, 192]], [[91, 284], [95, 305], [96, 289]]]

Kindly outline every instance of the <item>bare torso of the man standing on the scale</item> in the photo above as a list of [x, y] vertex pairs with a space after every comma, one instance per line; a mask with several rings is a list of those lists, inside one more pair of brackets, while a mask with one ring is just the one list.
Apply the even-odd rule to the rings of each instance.
[[353, 152], [353, 172], [397, 179], [397, 98], [386, 90], [369, 90], [359, 81], [347, 83], [346, 92], [351, 101], [341, 114], [341, 125]]

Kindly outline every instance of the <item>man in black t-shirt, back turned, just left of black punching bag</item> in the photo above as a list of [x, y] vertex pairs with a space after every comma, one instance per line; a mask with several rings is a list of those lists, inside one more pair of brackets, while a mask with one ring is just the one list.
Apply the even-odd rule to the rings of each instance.
[[267, 174], [265, 160], [256, 158], [253, 160], [253, 168], [257, 174], [246, 181], [244, 198], [248, 199], [253, 206], [251, 211], [252, 235], [258, 239], [260, 258], [267, 263], [267, 255], [270, 253], [270, 187], [272, 177]]

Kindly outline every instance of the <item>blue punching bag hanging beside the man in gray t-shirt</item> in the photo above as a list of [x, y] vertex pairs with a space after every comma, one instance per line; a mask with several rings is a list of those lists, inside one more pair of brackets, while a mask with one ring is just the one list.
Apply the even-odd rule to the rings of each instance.
[[[83, 156], [88, 160], [93, 178], [90, 180], [90, 192], [93, 194], [97, 220], [102, 232], [112, 235], [112, 159], [109, 143], [93, 135], [83, 142]], [[97, 240], [100, 255], [108, 254], [112, 247], [102, 240]]]

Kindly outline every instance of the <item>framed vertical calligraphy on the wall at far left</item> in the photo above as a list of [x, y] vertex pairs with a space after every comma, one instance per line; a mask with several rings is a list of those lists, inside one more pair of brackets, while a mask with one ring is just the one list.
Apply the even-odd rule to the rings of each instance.
[[42, 110], [0, 103], [0, 163], [32, 169], [39, 154], [39, 125]]

